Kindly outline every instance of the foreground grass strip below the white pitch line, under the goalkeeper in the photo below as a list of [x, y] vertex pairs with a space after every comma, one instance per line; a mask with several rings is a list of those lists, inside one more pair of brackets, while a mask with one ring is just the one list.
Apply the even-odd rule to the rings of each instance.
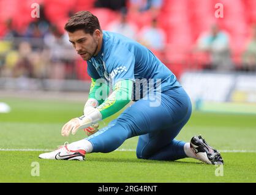
[[[39, 154], [1, 152], [0, 182], [256, 182], [252, 153], [224, 153], [224, 175], [219, 177], [216, 166], [192, 158], [141, 160], [134, 152], [115, 151], [88, 154], [86, 161], [57, 161], [40, 159]], [[31, 176], [34, 161], [40, 165], [39, 177]]]

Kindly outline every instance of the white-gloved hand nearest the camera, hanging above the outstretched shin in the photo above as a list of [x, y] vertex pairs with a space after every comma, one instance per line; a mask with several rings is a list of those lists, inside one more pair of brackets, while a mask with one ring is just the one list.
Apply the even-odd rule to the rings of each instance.
[[61, 130], [62, 136], [69, 136], [70, 132], [75, 135], [78, 129], [84, 129], [92, 125], [92, 119], [88, 116], [80, 116], [78, 118], [73, 118], [67, 122]]

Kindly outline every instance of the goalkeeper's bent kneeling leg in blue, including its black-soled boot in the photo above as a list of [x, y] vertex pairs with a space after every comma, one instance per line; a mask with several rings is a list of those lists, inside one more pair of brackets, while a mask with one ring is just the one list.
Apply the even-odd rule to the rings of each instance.
[[183, 88], [166, 93], [170, 99], [163, 102], [168, 102], [166, 107], [169, 107], [172, 115], [171, 126], [141, 135], [138, 140], [137, 157], [151, 160], [178, 160], [191, 157], [208, 164], [223, 164], [224, 161], [219, 152], [209, 146], [201, 136], [193, 137], [190, 143], [174, 139], [190, 118], [191, 104]]

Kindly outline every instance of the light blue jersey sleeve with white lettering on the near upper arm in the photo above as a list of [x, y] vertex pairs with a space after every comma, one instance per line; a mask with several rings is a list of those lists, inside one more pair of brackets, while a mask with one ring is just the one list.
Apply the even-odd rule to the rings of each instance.
[[125, 48], [115, 48], [108, 57], [107, 71], [110, 74], [112, 88], [120, 80], [132, 80], [134, 77], [135, 56]]

